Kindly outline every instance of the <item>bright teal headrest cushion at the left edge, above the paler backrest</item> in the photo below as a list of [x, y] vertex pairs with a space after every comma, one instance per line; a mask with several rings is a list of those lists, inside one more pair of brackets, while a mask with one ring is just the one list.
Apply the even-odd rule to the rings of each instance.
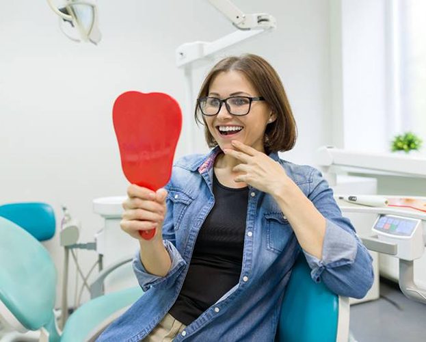
[[25, 229], [38, 241], [55, 235], [55, 212], [51, 205], [41, 202], [21, 202], [0, 205], [0, 216]]

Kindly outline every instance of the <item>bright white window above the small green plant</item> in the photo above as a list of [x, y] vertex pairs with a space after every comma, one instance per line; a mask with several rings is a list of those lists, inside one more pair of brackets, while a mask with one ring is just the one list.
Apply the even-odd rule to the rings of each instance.
[[413, 131], [426, 150], [426, 1], [392, 0], [393, 131]]

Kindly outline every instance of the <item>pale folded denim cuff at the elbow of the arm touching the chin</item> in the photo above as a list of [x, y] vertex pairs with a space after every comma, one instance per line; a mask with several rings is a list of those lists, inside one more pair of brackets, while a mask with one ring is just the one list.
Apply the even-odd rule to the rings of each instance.
[[319, 260], [305, 250], [306, 261], [312, 271], [310, 276], [315, 282], [320, 282], [324, 269], [348, 265], [354, 263], [358, 244], [356, 237], [337, 226], [330, 220], [326, 220], [325, 237], [323, 241], [323, 255]]

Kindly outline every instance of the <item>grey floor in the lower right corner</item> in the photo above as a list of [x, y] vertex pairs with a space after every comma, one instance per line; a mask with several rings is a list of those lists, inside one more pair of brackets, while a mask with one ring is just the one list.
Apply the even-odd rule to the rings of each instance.
[[426, 341], [426, 304], [405, 298], [398, 285], [380, 280], [380, 299], [351, 306], [351, 334], [358, 342]]

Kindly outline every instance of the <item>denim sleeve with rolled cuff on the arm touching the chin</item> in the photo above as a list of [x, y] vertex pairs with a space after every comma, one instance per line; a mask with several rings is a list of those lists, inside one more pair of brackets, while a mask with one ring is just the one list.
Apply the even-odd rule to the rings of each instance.
[[312, 170], [310, 184], [308, 198], [326, 220], [321, 260], [304, 251], [312, 279], [338, 295], [362, 298], [373, 285], [373, 259], [350, 220], [343, 218], [321, 172]]

